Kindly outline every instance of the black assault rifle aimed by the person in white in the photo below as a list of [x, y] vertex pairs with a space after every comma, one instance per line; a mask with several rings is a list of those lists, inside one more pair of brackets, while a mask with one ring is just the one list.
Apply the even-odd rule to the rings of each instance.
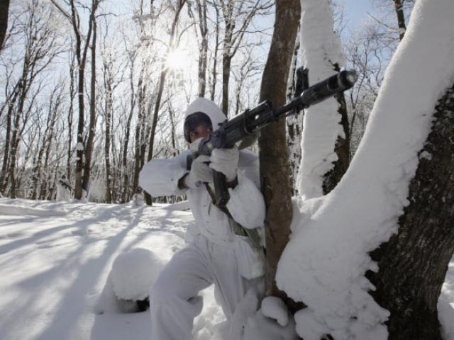
[[[299, 69], [301, 79], [297, 81], [297, 96], [280, 108], [272, 108], [270, 101], [263, 101], [257, 107], [246, 110], [235, 117], [225, 120], [218, 130], [204, 137], [197, 152], [189, 156], [188, 169], [195, 159], [201, 154], [211, 155], [214, 149], [230, 149], [237, 142], [251, 138], [258, 130], [268, 124], [275, 123], [288, 115], [298, 114], [299, 111], [320, 103], [331, 96], [340, 94], [350, 89], [358, 79], [355, 71], [341, 71], [313, 86], [308, 86], [307, 71]], [[221, 172], [214, 171], [214, 190], [216, 193], [216, 206], [225, 207], [230, 199], [226, 176]]]

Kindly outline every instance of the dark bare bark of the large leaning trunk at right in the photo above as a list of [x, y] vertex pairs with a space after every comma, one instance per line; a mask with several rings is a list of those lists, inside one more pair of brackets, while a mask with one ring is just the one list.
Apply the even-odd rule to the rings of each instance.
[[372, 251], [377, 288], [391, 312], [389, 340], [441, 340], [437, 302], [454, 252], [454, 85], [438, 101], [431, 133], [419, 153], [398, 234]]

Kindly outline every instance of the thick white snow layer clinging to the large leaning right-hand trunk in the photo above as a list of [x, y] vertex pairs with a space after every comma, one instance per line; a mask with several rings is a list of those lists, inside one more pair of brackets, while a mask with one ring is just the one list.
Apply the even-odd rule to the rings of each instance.
[[367, 293], [364, 273], [377, 271], [368, 252], [397, 231], [434, 106], [454, 80], [453, 17], [452, 0], [416, 2], [348, 172], [328, 196], [294, 211], [277, 284], [309, 306], [295, 315], [305, 340], [387, 339], [389, 312]]

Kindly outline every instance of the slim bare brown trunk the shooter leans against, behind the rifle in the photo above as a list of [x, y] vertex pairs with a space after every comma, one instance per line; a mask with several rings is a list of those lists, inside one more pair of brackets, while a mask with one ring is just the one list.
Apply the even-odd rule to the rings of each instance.
[[[260, 101], [269, 99], [275, 108], [284, 105], [286, 101], [287, 79], [300, 11], [299, 0], [276, 1], [275, 30], [260, 91]], [[277, 289], [275, 282], [277, 262], [289, 240], [292, 222], [292, 188], [285, 120], [268, 125], [261, 131], [259, 147], [260, 178], [267, 207], [265, 294], [287, 300], [285, 294]]]

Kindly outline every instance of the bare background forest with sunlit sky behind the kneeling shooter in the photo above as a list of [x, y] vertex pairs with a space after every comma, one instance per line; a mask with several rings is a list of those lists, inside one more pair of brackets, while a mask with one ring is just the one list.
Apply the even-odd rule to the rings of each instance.
[[[374, 1], [357, 26], [348, 25], [343, 3], [330, 6], [343, 54], [337, 67], [359, 74], [345, 94], [348, 164], [414, 1]], [[186, 149], [181, 120], [193, 98], [216, 101], [228, 118], [267, 99], [260, 98], [260, 81], [274, 1], [11, 1], [2, 13], [5, 197], [55, 199], [56, 182], [65, 175], [75, 198], [84, 190], [90, 201], [128, 202], [145, 162]], [[290, 40], [296, 43], [288, 100], [302, 64], [299, 35]], [[295, 193], [301, 115], [288, 118], [286, 127]]]

